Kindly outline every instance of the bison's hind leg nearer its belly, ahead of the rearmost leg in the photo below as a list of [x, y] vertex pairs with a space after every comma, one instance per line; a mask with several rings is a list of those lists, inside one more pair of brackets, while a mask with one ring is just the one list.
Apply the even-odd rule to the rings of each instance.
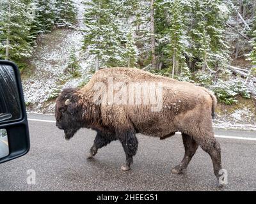
[[184, 173], [189, 162], [194, 156], [196, 149], [198, 148], [198, 144], [195, 142], [192, 136], [182, 133], [182, 140], [185, 148], [185, 155], [180, 164], [172, 169], [172, 173]]

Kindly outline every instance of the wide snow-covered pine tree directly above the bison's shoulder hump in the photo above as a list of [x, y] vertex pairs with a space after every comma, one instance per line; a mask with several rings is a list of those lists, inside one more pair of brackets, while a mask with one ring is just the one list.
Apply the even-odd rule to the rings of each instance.
[[124, 64], [124, 30], [116, 15], [119, 1], [92, 0], [84, 2], [84, 49], [95, 55], [95, 71], [104, 66]]

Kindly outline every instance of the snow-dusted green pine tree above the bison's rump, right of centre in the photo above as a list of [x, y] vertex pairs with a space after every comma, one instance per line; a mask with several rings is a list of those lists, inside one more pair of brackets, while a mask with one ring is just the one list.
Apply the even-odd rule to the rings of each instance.
[[221, 6], [225, 5], [219, 0], [191, 0], [190, 60], [203, 70], [225, 66], [229, 59], [223, 34], [227, 19], [220, 15]]

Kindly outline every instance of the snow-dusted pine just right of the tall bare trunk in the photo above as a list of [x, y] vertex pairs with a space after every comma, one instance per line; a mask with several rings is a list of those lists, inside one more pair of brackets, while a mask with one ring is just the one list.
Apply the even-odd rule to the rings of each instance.
[[[175, 0], [156, 0], [156, 54], [158, 59], [158, 69], [169, 68], [168, 71], [174, 71], [172, 66], [177, 66], [177, 73], [182, 66], [184, 66], [185, 56], [188, 52], [185, 52], [188, 47], [188, 36], [186, 31], [188, 27], [188, 8], [190, 1], [175, 1]], [[175, 8], [173, 8], [175, 6]], [[178, 10], [176, 10], [176, 8]], [[175, 29], [178, 36], [175, 36]], [[173, 45], [170, 41], [176, 41], [179, 48], [180, 59], [175, 60], [173, 64]], [[185, 47], [186, 44], [186, 47]], [[175, 45], [176, 46], [176, 45]], [[181, 55], [180, 55], [181, 54]], [[176, 57], [176, 56], [175, 56]], [[176, 63], [177, 62], [177, 63]]]

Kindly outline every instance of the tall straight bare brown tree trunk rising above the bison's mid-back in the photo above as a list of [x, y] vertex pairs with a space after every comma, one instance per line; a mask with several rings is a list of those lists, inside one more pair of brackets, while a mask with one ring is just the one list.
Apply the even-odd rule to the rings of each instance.
[[154, 0], [150, 3], [150, 31], [151, 31], [151, 52], [152, 68], [156, 68], [156, 39], [155, 39], [155, 19], [154, 19]]

